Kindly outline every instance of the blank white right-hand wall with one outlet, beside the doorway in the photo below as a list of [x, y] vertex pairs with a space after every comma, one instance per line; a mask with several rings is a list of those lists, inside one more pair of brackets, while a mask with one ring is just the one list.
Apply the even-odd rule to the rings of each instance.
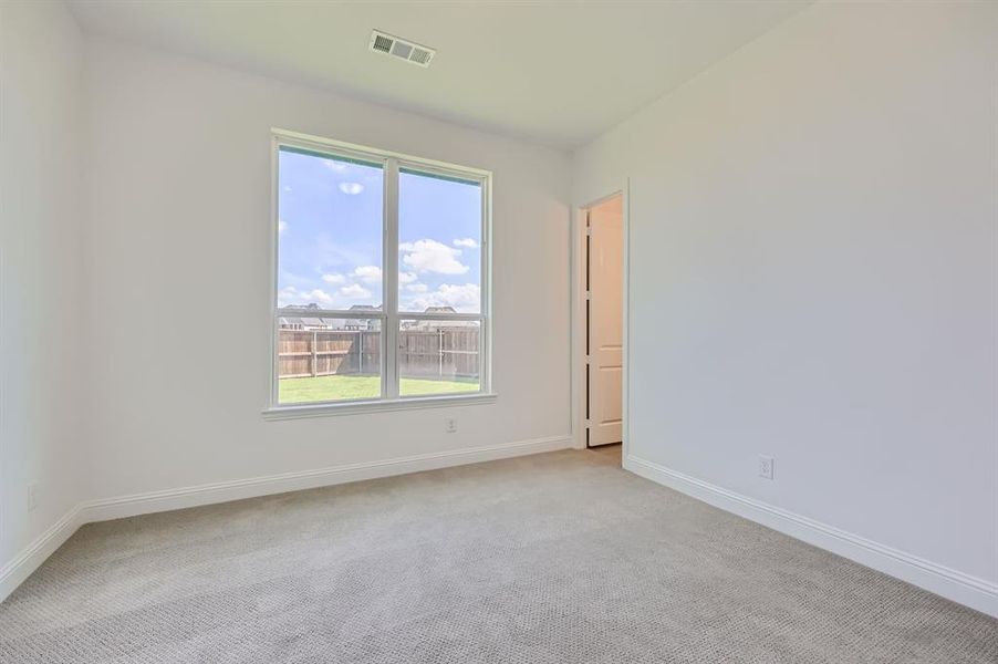
[[996, 84], [998, 4], [819, 4], [573, 180], [584, 204], [630, 178], [635, 467], [924, 559], [991, 612]]

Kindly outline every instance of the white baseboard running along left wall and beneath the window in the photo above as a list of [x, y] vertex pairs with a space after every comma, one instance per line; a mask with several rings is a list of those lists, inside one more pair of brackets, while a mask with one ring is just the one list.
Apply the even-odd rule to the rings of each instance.
[[313, 489], [316, 487], [375, 479], [394, 475], [406, 475], [420, 470], [434, 470], [465, 464], [477, 464], [496, 459], [554, 452], [570, 448], [573, 445], [571, 436], [553, 436], [550, 438], [534, 438], [517, 443], [503, 443], [499, 445], [486, 445], [465, 449], [435, 452], [408, 457], [385, 459], [381, 461], [366, 461], [319, 468], [315, 470], [302, 470], [299, 473], [282, 473], [248, 479], [231, 481], [218, 481], [179, 489], [164, 491], [150, 491], [148, 494], [135, 494], [117, 498], [105, 498], [82, 502], [71, 509], [64, 517], [42, 533], [27, 549], [13, 560], [0, 568], [0, 602], [13, 592], [24, 579], [41, 566], [49, 556], [72, 536], [77, 528], [94, 521], [106, 521], [123, 517], [135, 517], [158, 511], [184, 509], [199, 505], [215, 502], [228, 502], [242, 498], [256, 498], [271, 494]]

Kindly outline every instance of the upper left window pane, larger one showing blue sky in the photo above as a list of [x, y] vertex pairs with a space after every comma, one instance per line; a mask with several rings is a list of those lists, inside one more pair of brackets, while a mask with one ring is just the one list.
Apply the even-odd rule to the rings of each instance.
[[282, 146], [278, 307], [382, 304], [384, 169]]

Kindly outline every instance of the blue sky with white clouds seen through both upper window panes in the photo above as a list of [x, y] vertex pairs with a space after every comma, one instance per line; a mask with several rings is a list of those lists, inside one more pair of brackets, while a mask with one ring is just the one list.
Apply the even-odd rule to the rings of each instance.
[[[382, 303], [380, 167], [281, 151], [278, 304]], [[478, 312], [481, 188], [402, 173], [399, 309]]]

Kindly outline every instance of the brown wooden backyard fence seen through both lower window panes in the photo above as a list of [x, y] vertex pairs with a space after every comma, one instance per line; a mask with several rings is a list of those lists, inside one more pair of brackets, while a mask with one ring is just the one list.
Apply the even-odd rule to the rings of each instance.
[[[478, 377], [478, 328], [399, 330], [403, 376]], [[278, 377], [377, 374], [382, 333], [377, 330], [281, 330]]]

